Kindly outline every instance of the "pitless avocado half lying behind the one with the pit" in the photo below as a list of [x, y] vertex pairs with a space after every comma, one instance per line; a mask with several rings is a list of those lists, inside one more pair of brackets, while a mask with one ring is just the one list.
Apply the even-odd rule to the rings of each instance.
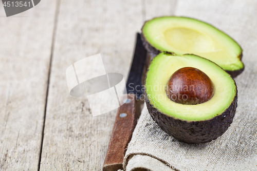
[[216, 63], [233, 78], [244, 70], [240, 45], [221, 30], [193, 18], [154, 18], [145, 22], [141, 39], [153, 56], [163, 51], [196, 54]]

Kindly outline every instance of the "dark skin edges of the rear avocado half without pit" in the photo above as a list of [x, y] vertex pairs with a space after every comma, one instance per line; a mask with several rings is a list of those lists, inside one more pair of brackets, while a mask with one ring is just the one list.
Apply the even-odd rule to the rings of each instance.
[[[161, 51], [157, 50], [155, 47], [153, 47], [152, 45], [150, 45], [150, 43], [148, 43], [144, 36], [143, 36], [143, 33], [141, 33], [141, 40], [143, 42], [143, 45], [144, 45], [144, 48], [148, 51], [148, 53], [154, 57], [156, 56], [157, 54], [159, 54]], [[243, 57], [243, 54], [241, 52], [240, 54], [240, 60], [242, 61], [242, 57]], [[225, 70], [228, 74], [231, 75], [232, 78], [235, 78], [237, 75], [241, 74], [245, 69], [245, 66], [240, 69], [240, 70], [234, 70], [234, 71], [229, 71], [229, 70]]]

